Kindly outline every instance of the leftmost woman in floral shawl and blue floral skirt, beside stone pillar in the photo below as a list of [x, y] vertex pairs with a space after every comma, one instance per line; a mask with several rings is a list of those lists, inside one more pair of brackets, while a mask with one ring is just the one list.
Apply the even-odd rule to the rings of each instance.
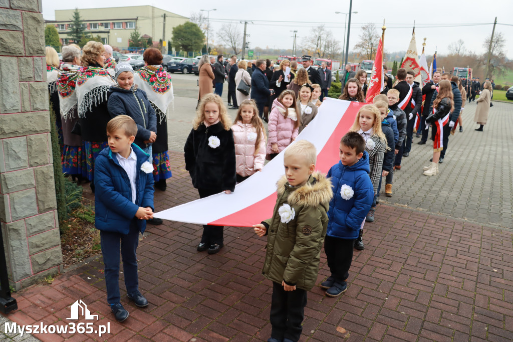
[[63, 63], [57, 76], [57, 92], [62, 119], [64, 148], [62, 157], [63, 173], [71, 175], [73, 180], [87, 180], [82, 176], [85, 166], [82, 137], [72, 133], [78, 115], [76, 107], [76, 80], [81, 61], [80, 49], [67, 45], [62, 49]]

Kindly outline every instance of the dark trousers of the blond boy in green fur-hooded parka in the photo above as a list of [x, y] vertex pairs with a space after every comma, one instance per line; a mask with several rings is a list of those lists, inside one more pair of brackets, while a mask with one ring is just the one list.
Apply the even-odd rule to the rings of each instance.
[[299, 341], [303, 331], [301, 323], [306, 300], [305, 290], [296, 288], [294, 291], [285, 291], [282, 284], [272, 282], [271, 337], [280, 341], [284, 338]]

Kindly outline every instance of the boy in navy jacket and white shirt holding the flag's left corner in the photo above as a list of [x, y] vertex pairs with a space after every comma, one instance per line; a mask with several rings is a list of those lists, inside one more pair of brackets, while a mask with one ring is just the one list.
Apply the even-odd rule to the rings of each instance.
[[120, 303], [120, 250], [128, 298], [138, 307], [148, 305], [139, 292], [135, 250], [139, 232], [144, 233], [146, 220], [153, 217], [153, 166], [149, 155], [133, 143], [136, 134], [132, 118], [120, 115], [110, 120], [109, 147], [94, 164], [94, 225], [100, 230], [107, 302], [120, 322], [128, 318]]

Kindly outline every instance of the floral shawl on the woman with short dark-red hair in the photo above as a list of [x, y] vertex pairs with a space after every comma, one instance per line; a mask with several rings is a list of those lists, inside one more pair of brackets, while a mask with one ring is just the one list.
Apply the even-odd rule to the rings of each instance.
[[173, 84], [162, 65], [148, 65], [133, 74], [134, 84], [146, 92], [148, 100], [159, 116], [159, 124], [166, 121], [169, 107], [174, 101]]

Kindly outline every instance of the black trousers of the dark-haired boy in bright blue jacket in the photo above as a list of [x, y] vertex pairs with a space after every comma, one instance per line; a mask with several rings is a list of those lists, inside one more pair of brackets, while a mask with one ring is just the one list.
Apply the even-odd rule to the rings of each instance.
[[349, 277], [354, 241], [356, 239], [339, 239], [328, 235], [324, 238], [324, 252], [329, 271], [339, 283], [346, 281]]

